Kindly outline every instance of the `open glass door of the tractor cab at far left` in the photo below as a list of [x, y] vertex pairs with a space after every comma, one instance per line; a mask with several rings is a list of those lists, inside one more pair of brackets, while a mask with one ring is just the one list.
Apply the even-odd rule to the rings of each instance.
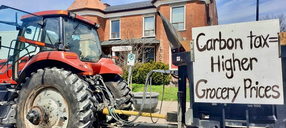
[[[21, 61], [24, 56], [35, 55], [39, 47], [19, 43], [17, 36], [30, 40], [40, 40], [40, 29], [43, 18], [7, 6], [0, 7], [0, 74]], [[16, 72], [16, 71], [15, 71]]]

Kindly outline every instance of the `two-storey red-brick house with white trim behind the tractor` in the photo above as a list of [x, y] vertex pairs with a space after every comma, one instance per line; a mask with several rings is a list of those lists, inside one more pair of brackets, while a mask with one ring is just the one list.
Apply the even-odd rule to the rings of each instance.
[[162, 61], [172, 65], [169, 42], [162, 25], [160, 11], [177, 28], [185, 40], [192, 40], [192, 27], [217, 25], [215, 0], [149, 0], [110, 6], [100, 0], [75, 0], [67, 11], [99, 23], [102, 50], [116, 55], [114, 46], [127, 46], [128, 39], [150, 44], [140, 59]]

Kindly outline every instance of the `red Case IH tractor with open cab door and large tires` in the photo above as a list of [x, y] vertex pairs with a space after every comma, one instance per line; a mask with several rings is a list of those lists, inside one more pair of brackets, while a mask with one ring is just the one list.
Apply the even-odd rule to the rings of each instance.
[[[0, 7], [0, 124], [97, 127], [132, 110], [122, 68], [101, 49], [99, 24], [64, 10]], [[122, 120], [128, 116], [121, 114]]]

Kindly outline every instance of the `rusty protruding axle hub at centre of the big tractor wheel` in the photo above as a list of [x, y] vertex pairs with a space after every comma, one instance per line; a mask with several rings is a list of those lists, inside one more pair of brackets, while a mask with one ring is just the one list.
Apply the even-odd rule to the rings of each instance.
[[42, 106], [33, 106], [26, 115], [26, 118], [33, 124], [39, 125], [43, 121], [49, 119], [49, 109]]

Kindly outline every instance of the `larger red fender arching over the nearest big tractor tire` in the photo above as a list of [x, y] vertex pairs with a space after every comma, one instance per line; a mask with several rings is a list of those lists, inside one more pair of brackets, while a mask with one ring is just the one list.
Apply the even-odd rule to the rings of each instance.
[[86, 63], [80, 61], [78, 55], [73, 52], [64, 51], [44, 51], [32, 57], [23, 67], [18, 81], [25, 82], [26, 77], [31, 77], [31, 73], [46, 67], [58, 67], [70, 70], [74, 73], [92, 73], [93, 70]]

